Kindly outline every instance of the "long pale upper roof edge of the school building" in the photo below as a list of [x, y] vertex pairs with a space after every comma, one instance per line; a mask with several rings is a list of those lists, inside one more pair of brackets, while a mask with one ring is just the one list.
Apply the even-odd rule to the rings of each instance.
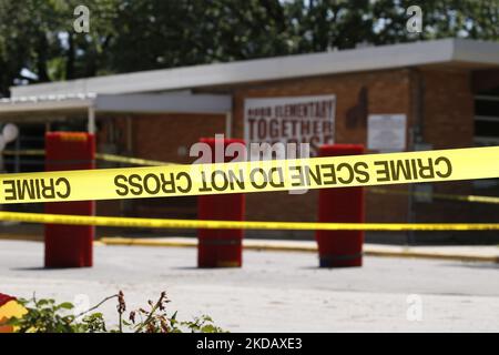
[[442, 39], [11, 87], [11, 97], [140, 93], [431, 64], [499, 68], [499, 42]]

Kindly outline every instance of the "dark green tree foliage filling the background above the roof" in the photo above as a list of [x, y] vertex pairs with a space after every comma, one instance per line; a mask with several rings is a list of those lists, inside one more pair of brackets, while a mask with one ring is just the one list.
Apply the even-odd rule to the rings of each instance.
[[499, 40], [499, 0], [0, 0], [0, 94], [12, 84], [436, 38]]

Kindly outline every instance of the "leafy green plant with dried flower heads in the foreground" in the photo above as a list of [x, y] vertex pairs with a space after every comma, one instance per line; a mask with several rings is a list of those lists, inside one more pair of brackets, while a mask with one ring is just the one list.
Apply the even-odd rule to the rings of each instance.
[[[118, 301], [118, 326], [109, 328], [102, 313], [94, 312], [105, 302]], [[166, 304], [170, 300], [162, 292], [156, 302], [149, 301], [146, 308], [129, 313], [125, 320], [126, 303], [123, 292], [105, 297], [88, 311], [74, 314], [74, 305], [70, 302], [55, 303], [54, 300], [20, 298], [18, 302], [28, 311], [20, 318], [11, 318], [8, 324], [19, 333], [223, 333], [214, 325], [213, 320], [203, 315], [193, 321], [179, 321], [177, 313], [167, 315]]]

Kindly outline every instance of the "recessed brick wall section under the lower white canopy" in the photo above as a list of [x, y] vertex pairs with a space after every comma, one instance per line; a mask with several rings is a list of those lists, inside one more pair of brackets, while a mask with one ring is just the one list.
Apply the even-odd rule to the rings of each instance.
[[[189, 156], [189, 151], [201, 136], [225, 133], [225, 115], [220, 114], [147, 114], [101, 122], [101, 145], [110, 141], [110, 125], [113, 124], [119, 154], [182, 164], [195, 160]], [[128, 142], [129, 134], [131, 142]], [[98, 204], [98, 211], [103, 215], [195, 219], [197, 200], [186, 196], [103, 201]]]

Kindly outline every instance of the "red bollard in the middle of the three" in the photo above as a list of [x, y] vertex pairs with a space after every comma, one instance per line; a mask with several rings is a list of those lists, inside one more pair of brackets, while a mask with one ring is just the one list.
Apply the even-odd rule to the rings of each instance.
[[[233, 156], [223, 152], [231, 143], [242, 143], [237, 139], [201, 139], [212, 149], [212, 162], [228, 162]], [[215, 145], [218, 160], [215, 160]], [[245, 199], [242, 193], [202, 195], [197, 197], [197, 219], [217, 221], [243, 221]], [[243, 230], [198, 230], [197, 266], [198, 267], [241, 267], [243, 265]]]

